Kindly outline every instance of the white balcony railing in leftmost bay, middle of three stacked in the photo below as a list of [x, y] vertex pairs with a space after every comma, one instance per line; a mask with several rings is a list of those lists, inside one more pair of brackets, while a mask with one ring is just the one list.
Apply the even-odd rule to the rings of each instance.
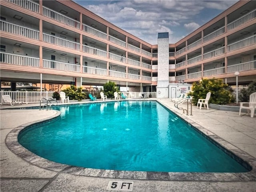
[[4, 20], [1, 20], [1, 22], [0, 22], [0, 30], [8, 32], [8, 33], [21, 35], [21, 36], [25, 36], [28, 38], [39, 40], [40, 32], [38, 30], [34, 30], [34, 29], [31, 29], [28, 27], [12, 24], [12, 23], [4, 21]]

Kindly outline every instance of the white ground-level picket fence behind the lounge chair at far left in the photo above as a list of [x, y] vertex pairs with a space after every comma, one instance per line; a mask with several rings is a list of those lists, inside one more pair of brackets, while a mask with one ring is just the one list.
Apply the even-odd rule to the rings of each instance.
[[[52, 98], [52, 94], [54, 92], [50, 91], [1, 91], [1, 98], [2, 95], [10, 95], [13, 100], [17, 102], [24, 102], [28, 103], [40, 103], [42, 98]], [[2, 101], [1, 101], [2, 103]]]

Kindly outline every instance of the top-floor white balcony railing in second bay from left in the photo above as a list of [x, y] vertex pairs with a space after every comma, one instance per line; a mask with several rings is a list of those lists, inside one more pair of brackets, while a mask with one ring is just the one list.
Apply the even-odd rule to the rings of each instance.
[[43, 15], [68, 26], [80, 29], [80, 22], [43, 6]]

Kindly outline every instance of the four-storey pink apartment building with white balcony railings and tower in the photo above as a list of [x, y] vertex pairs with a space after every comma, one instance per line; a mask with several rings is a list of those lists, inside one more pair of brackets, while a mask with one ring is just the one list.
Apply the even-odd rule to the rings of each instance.
[[161, 92], [201, 78], [232, 85], [235, 72], [239, 84], [256, 80], [254, 1], [237, 2], [175, 44], [168, 33], [156, 34], [157, 45], [70, 0], [2, 0], [0, 9], [0, 80], [14, 87], [114, 81], [134, 92]]

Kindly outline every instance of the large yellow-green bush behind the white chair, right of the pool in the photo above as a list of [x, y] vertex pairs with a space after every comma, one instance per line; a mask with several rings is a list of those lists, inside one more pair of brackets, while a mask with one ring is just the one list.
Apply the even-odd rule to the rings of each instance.
[[192, 92], [188, 95], [192, 96], [192, 103], [197, 105], [198, 99], [205, 98], [208, 92], [211, 92], [209, 103], [224, 105], [234, 102], [229, 86], [224, 84], [222, 79], [202, 79], [198, 83], [194, 82]]

